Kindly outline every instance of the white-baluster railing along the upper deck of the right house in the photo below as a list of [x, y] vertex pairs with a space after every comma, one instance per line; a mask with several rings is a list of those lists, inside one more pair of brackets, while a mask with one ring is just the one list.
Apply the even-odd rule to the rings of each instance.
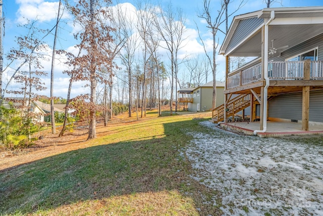
[[[304, 79], [305, 61], [268, 62], [268, 78], [272, 80]], [[310, 62], [310, 79], [323, 79], [323, 61]], [[261, 80], [261, 63], [229, 74], [227, 89], [239, 87]]]

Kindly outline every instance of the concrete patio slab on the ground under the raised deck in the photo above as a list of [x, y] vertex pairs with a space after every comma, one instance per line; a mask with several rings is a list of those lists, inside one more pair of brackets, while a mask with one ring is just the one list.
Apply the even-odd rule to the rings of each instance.
[[[255, 122], [229, 122], [221, 123], [232, 131], [253, 135], [253, 131], [259, 129], [259, 121]], [[259, 137], [282, 137], [290, 135], [321, 135], [323, 136], [323, 125], [309, 125], [309, 131], [302, 131], [302, 124], [296, 122], [267, 121], [265, 133], [258, 133]]]

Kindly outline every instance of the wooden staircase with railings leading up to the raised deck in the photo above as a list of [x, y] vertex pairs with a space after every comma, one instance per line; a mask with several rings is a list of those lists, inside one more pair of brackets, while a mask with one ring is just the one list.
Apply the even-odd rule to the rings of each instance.
[[[228, 101], [227, 103], [227, 117], [234, 116], [235, 113], [240, 112], [250, 106], [250, 94], [239, 95]], [[214, 108], [212, 111], [212, 122], [218, 123], [224, 121], [224, 104]]]

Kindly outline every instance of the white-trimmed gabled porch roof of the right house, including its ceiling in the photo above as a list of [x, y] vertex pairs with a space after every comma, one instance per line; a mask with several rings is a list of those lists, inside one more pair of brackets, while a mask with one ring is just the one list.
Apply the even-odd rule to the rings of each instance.
[[[259, 57], [261, 55], [261, 27], [268, 24], [268, 47], [291, 48], [323, 32], [323, 7], [265, 8], [234, 17], [220, 54]], [[280, 50], [283, 52], [284, 50]], [[279, 54], [279, 53], [278, 53]]]

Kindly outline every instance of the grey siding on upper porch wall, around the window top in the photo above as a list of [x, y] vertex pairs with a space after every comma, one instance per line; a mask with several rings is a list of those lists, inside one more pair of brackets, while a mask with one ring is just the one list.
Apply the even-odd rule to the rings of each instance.
[[323, 61], [323, 33], [313, 37], [301, 44], [284, 51], [280, 57], [275, 58], [275, 61], [285, 61], [295, 55], [303, 53], [318, 47], [318, 61]]

